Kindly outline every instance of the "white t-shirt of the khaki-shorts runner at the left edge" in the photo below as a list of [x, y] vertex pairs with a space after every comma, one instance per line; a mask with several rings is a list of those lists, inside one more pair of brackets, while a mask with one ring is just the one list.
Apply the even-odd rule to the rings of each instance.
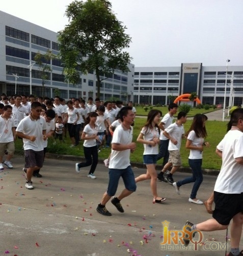
[[0, 115], [0, 143], [13, 142], [12, 128], [15, 127], [14, 120], [10, 117], [8, 120]]

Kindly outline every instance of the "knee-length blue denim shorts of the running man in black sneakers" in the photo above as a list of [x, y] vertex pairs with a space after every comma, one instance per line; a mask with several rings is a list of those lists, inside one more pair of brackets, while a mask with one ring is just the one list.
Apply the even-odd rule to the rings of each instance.
[[107, 194], [109, 196], [114, 196], [116, 194], [120, 177], [122, 177], [125, 188], [128, 191], [136, 191], [137, 185], [131, 166], [128, 166], [126, 169], [109, 169], [110, 179], [107, 189]]

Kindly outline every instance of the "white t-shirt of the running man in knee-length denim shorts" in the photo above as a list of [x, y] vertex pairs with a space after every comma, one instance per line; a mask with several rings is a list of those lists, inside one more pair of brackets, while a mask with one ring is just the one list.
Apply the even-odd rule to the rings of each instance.
[[[130, 144], [132, 142], [133, 128], [130, 126], [129, 130], [124, 130], [122, 125], [119, 125], [114, 131], [112, 144]], [[123, 151], [116, 151], [112, 149], [110, 157], [110, 169], [126, 169], [130, 166], [130, 149]]]

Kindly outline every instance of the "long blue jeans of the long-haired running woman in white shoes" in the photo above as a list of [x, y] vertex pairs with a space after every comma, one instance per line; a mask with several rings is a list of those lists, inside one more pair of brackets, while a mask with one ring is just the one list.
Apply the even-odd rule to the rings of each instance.
[[177, 181], [176, 185], [177, 187], [180, 187], [181, 185], [194, 182], [190, 196], [190, 198], [194, 199], [196, 198], [198, 189], [203, 181], [202, 159], [188, 159], [188, 163], [192, 168], [193, 176]]

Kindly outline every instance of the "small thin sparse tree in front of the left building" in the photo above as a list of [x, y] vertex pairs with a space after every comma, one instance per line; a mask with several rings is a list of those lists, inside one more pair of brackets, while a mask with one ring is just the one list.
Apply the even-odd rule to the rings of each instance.
[[50, 80], [50, 61], [56, 58], [57, 56], [53, 54], [49, 49], [46, 51], [45, 54], [41, 54], [40, 52], [38, 52], [34, 57], [34, 61], [36, 62], [40, 71], [40, 78], [42, 79], [42, 97], [45, 96], [44, 85]]

